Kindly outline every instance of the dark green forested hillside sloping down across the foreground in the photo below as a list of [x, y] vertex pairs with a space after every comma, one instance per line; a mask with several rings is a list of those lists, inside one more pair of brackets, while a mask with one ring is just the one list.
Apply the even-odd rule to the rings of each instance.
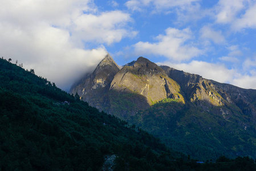
[[256, 169], [249, 157], [198, 164], [4, 59], [0, 111], [0, 170]]

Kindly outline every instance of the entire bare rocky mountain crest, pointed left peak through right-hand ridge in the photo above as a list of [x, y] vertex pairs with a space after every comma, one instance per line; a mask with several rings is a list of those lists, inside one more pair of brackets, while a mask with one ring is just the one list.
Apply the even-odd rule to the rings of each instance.
[[[168, 66], [159, 67], [142, 56], [120, 69], [112, 57], [107, 54], [95, 71], [89, 74], [81, 84], [72, 88], [71, 93], [78, 92], [79, 96], [82, 96], [89, 104], [104, 109], [106, 112], [111, 111], [109, 113], [115, 113], [111, 108], [119, 99], [118, 96], [124, 94], [125, 96], [132, 94], [131, 106], [136, 105], [139, 108], [148, 108], [166, 98], [180, 100], [182, 103], [192, 103], [202, 108], [203, 111], [210, 111], [212, 106], [227, 105], [233, 108], [233, 105], [241, 100], [244, 104], [248, 104], [246, 94], [239, 97], [239, 100], [233, 99], [233, 94], [242, 94], [239, 93], [242, 92], [241, 90], [237, 93], [235, 92], [238, 91], [237, 88], [232, 88], [232, 93], [230, 93], [231, 91], [227, 91], [230, 86], [226, 87], [204, 79], [200, 75], [189, 74]], [[119, 95], [109, 97], [113, 92]], [[124, 108], [127, 107], [127, 104], [120, 104], [117, 108], [122, 105]], [[131, 109], [132, 113], [137, 110], [138, 108]], [[225, 117], [229, 117], [230, 111], [224, 108], [217, 113], [224, 113]], [[256, 117], [256, 114], [253, 115]]]

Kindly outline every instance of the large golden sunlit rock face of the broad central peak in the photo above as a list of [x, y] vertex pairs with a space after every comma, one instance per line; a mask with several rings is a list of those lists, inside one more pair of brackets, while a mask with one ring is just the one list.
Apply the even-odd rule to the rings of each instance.
[[147, 98], [149, 105], [166, 98], [184, 100], [180, 86], [168, 78], [162, 68], [143, 57], [117, 72], [110, 89], [142, 95]]

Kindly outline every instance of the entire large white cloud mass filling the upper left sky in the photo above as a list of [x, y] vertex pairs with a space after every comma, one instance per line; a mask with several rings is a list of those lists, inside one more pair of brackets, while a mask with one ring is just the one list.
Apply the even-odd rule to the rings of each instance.
[[1, 56], [67, 89], [104, 57], [102, 43], [136, 35], [131, 21], [121, 11], [101, 13], [90, 0], [0, 1]]

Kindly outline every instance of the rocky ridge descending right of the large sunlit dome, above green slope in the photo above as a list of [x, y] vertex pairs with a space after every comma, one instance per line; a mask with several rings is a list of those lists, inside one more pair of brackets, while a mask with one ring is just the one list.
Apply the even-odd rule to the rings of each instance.
[[226, 119], [231, 113], [247, 113], [256, 119], [255, 90], [218, 83], [204, 79], [200, 75], [189, 74], [168, 66], [161, 66], [161, 68], [168, 74], [169, 78], [180, 85], [182, 92], [184, 92], [185, 103], [192, 102], [202, 111], [207, 112], [213, 107], [226, 107], [226, 109], [220, 108], [218, 111], [214, 111]]

